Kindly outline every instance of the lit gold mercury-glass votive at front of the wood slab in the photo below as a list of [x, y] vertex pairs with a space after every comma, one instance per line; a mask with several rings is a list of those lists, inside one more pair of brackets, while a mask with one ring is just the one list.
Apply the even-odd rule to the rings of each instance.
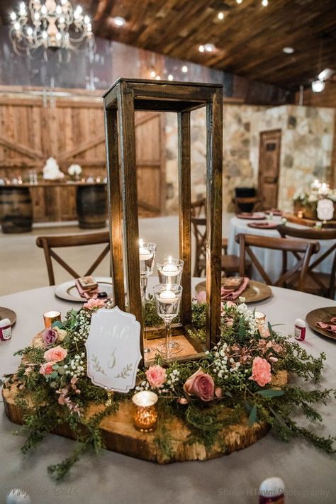
[[150, 391], [138, 392], [133, 396], [133, 422], [136, 430], [155, 430], [158, 416], [157, 399], [157, 394]]

